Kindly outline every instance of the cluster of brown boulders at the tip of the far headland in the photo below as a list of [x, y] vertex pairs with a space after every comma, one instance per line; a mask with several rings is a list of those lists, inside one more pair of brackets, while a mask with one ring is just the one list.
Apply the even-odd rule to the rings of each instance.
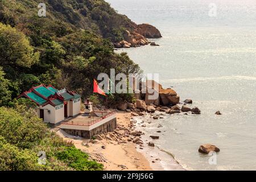
[[[146, 46], [151, 42], [147, 38], [161, 38], [162, 35], [160, 31], [150, 24], [139, 24], [134, 31], [130, 32], [125, 30], [123, 32], [123, 38], [121, 42], [113, 43], [115, 48], [130, 48]], [[151, 46], [159, 46], [158, 44], [152, 42]]]

